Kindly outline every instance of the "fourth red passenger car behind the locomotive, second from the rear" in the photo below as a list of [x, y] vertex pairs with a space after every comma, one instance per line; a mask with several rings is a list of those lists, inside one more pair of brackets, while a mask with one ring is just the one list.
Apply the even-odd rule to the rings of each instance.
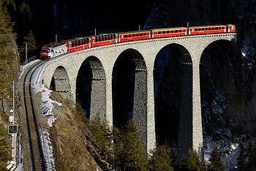
[[187, 36], [187, 28], [159, 28], [152, 30], [152, 38]]

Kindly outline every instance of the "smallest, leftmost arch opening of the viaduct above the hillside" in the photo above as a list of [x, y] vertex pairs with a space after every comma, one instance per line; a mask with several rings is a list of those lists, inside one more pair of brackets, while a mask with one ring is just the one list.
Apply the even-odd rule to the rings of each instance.
[[50, 81], [50, 90], [56, 91], [66, 99], [72, 99], [69, 76], [64, 66], [58, 66]]

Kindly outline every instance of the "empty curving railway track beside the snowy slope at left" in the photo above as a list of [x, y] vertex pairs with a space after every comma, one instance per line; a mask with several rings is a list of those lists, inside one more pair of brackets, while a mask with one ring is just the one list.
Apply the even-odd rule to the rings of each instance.
[[23, 170], [46, 170], [45, 160], [42, 151], [42, 143], [39, 136], [39, 126], [37, 123], [37, 113], [35, 112], [31, 78], [35, 69], [44, 62], [39, 61], [33, 64], [21, 77], [20, 99], [23, 113], [20, 114], [20, 131], [22, 134], [23, 146]]

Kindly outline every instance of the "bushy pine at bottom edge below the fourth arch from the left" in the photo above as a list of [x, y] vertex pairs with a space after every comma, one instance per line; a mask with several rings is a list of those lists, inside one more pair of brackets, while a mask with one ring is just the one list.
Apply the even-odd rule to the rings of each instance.
[[149, 159], [149, 169], [155, 171], [173, 171], [172, 159], [167, 145], [159, 145], [153, 151], [151, 151], [151, 157]]

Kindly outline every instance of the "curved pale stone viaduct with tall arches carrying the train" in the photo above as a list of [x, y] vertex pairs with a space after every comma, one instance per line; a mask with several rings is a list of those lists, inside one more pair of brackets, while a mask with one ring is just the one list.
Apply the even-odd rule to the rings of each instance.
[[[148, 39], [125, 42], [105, 47], [69, 53], [47, 61], [42, 83], [76, 102], [76, 83], [82, 64], [91, 69], [90, 118], [99, 115], [113, 125], [114, 97], [113, 77], [116, 77], [116, 61], [121, 54], [135, 64], [132, 118], [138, 126], [144, 148], [149, 151], [156, 144], [154, 118], [154, 63], [163, 47], [176, 45], [189, 56], [184, 61], [181, 79], [181, 113], [178, 128], [178, 151], [198, 149], [203, 144], [200, 104], [200, 57], [211, 43], [224, 40], [233, 42], [236, 34], [208, 34], [187, 37]], [[190, 73], [190, 74], [189, 74]], [[190, 75], [190, 76], [189, 76]], [[127, 78], [128, 79], [128, 78]], [[52, 81], [53, 80], [53, 81]]]

